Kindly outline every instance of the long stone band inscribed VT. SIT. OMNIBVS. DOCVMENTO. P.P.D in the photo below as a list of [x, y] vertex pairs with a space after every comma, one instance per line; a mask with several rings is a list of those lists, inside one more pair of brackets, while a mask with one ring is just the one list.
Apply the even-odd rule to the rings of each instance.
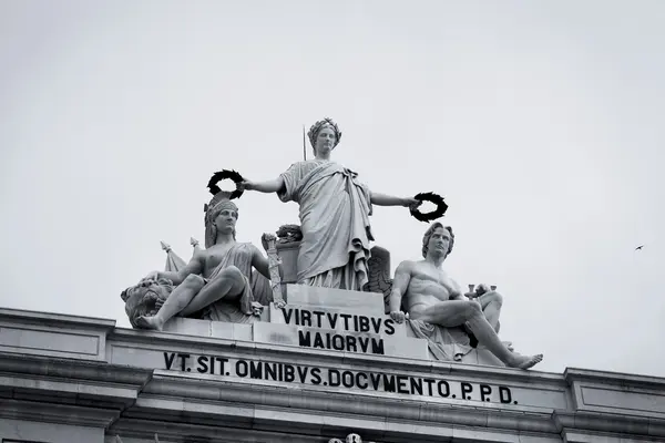
[[518, 411], [567, 409], [565, 389], [542, 389], [458, 375], [418, 373], [349, 364], [276, 361], [233, 351], [216, 353], [202, 348], [153, 350], [113, 346], [111, 363], [152, 368], [196, 379], [264, 385], [303, 385], [331, 392], [376, 395], [473, 406], [500, 406]]

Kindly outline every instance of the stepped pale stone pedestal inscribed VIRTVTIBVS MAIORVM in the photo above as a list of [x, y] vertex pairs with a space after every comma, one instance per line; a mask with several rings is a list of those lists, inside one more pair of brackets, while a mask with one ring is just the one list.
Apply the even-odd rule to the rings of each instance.
[[344, 353], [427, 360], [427, 340], [383, 313], [380, 293], [287, 285], [288, 305], [273, 303], [247, 323], [173, 318], [164, 332]]

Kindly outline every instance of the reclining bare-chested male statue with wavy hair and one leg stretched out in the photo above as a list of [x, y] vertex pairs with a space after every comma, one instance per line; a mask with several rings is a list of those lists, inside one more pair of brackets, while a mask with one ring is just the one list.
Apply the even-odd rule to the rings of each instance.
[[403, 306], [409, 313], [411, 328], [420, 330], [422, 336], [442, 334], [438, 328], [464, 326], [480, 344], [507, 367], [529, 369], [539, 363], [542, 354], [521, 356], [499, 339], [497, 330], [501, 296], [489, 291], [470, 300], [464, 299], [461, 287], [441, 268], [453, 243], [452, 228], [440, 223], [429, 227], [422, 239], [424, 259], [402, 261], [397, 267], [390, 295], [390, 317], [398, 323], [405, 321]]

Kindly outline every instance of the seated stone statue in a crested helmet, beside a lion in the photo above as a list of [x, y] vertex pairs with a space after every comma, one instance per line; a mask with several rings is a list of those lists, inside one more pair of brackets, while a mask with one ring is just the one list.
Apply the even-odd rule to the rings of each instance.
[[[260, 306], [254, 300], [252, 269], [269, 279], [268, 260], [250, 243], [236, 243], [237, 217], [238, 208], [228, 199], [228, 193], [217, 193], [206, 206], [206, 249], [196, 250], [180, 271], [150, 272], [139, 285], [123, 292], [123, 299], [126, 299], [131, 291], [151, 285], [164, 287], [166, 281], [174, 286], [154, 316], [131, 317], [135, 327], [162, 330], [172, 317], [188, 317], [200, 311], [203, 319], [232, 322], [248, 321], [256, 315]], [[270, 236], [264, 234], [264, 247], [274, 239]]]

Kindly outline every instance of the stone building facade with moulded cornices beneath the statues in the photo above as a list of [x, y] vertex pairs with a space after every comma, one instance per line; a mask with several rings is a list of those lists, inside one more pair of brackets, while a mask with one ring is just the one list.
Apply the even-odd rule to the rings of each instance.
[[[0, 309], [0, 441], [665, 442], [665, 379], [432, 361], [403, 324], [376, 333], [382, 353], [304, 346], [293, 338], [308, 330], [352, 336], [295, 323], [296, 307], [299, 323], [317, 309], [310, 289], [287, 291], [291, 311], [267, 309], [275, 321], [175, 319], [164, 332]], [[367, 303], [381, 296], [352, 312]]]

